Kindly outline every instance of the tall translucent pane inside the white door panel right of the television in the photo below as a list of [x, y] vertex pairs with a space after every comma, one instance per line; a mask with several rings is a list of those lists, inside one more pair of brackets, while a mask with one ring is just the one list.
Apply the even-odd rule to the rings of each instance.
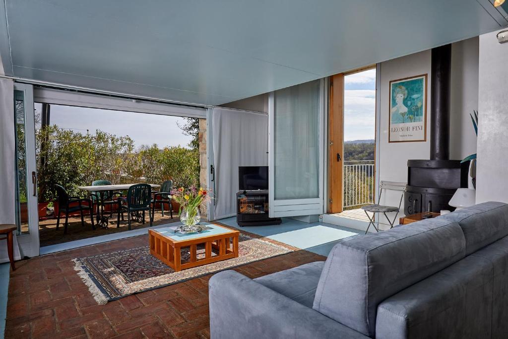
[[275, 91], [275, 200], [319, 198], [320, 81]]

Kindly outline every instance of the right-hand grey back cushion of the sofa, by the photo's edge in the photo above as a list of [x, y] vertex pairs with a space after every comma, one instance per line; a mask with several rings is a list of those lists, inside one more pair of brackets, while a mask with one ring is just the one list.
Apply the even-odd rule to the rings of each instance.
[[508, 205], [502, 202], [484, 202], [439, 218], [459, 223], [466, 239], [466, 255], [508, 235]]

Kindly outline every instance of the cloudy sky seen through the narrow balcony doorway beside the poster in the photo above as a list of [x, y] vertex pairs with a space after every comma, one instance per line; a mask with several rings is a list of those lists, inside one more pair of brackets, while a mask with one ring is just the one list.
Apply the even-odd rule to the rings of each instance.
[[376, 70], [344, 77], [344, 140], [374, 139]]

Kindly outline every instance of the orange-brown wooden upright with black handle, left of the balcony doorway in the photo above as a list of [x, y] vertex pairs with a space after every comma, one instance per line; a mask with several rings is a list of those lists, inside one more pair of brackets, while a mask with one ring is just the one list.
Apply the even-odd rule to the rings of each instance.
[[[344, 185], [344, 74], [330, 77], [328, 110], [328, 204], [327, 213], [340, 213], [343, 208]], [[340, 161], [337, 161], [337, 154]]]

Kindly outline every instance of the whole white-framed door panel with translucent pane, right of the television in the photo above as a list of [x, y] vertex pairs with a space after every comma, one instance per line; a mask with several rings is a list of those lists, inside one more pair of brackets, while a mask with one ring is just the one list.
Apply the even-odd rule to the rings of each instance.
[[324, 105], [324, 80], [270, 94], [270, 217], [323, 213]]

